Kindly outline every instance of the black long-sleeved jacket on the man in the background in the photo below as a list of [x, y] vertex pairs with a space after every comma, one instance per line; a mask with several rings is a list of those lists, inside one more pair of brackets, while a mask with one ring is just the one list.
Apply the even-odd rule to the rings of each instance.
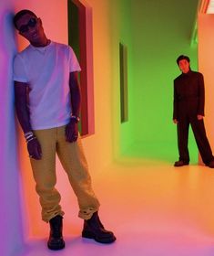
[[189, 70], [174, 80], [173, 119], [183, 115], [204, 115], [204, 79], [199, 72]]

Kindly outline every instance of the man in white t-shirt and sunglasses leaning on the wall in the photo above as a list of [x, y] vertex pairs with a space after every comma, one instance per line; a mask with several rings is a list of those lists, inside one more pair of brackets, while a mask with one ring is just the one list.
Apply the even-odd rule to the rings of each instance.
[[72, 48], [46, 37], [35, 13], [21, 10], [15, 28], [30, 45], [15, 56], [15, 109], [23, 132], [42, 207], [42, 219], [50, 224], [47, 246], [65, 247], [62, 235], [64, 212], [56, 190], [56, 154], [76, 194], [84, 219], [82, 237], [110, 243], [113, 232], [98, 217], [99, 202], [91, 187], [81, 139], [78, 136], [80, 71]]

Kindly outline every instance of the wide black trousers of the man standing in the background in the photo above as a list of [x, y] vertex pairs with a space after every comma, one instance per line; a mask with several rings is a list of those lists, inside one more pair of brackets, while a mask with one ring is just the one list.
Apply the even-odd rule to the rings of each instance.
[[199, 148], [199, 153], [205, 165], [208, 165], [213, 160], [212, 151], [206, 135], [204, 121], [198, 120], [197, 116], [182, 116], [178, 120], [178, 152], [179, 160], [189, 163], [189, 124], [191, 125], [194, 133], [196, 143]]

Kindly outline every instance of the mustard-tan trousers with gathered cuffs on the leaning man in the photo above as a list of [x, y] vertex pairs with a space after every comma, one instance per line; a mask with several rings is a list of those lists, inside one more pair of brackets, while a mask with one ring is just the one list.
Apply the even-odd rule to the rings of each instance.
[[75, 143], [66, 142], [66, 126], [34, 131], [41, 144], [42, 159], [30, 159], [36, 181], [36, 192], [42, 207], [42, 219], [48, 222], [56, 215], [64, 215], [60, 206], [61, 196], [56, 190], [56, 154], [66, 171], [78, 205], [78, 216], [90, 219], [98, 210], [99, 202], [91, 186], [87, 160], [81, 139]]

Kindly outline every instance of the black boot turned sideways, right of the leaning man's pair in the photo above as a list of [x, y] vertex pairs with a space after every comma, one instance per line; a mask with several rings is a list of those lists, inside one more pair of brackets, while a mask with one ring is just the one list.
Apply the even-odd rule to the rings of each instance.
[[94, 239], [101, 243], [111, 243], [116, 240], [113, 232], [104, 228], [97, 212], [92, 215], [91, 219], [84, 220], [82, 237], [87, 239]]

